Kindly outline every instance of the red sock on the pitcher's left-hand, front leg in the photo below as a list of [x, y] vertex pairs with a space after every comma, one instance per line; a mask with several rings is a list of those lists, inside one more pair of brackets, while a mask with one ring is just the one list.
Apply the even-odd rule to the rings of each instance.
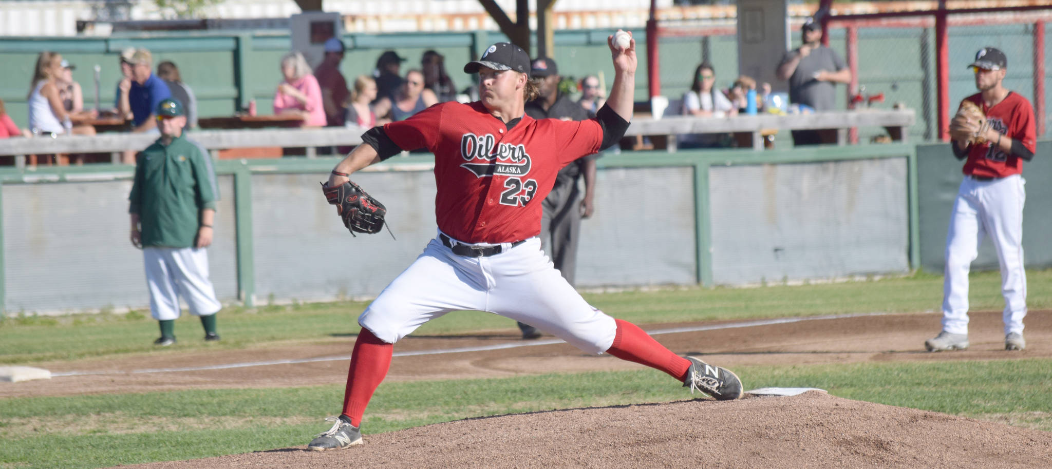
[[393, 353], [394, 345], [377, 339], [369, 329], [363, 327], [359, 332], [343, 394], [343, 414], [350, 417], [351, 425], [362, 426], [365, 407], [369, 405], [377, 386], [387, 375]]

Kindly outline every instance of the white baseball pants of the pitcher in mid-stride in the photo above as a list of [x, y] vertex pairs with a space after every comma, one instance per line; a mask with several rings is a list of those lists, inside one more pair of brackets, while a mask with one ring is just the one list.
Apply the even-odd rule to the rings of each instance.
[[537, 237], [482, 258], [454, 254], [433, 239], [358, 323], [393, 344], [432, 319], [465, 309], [529, 324], [590, 353], [609, 349], [618, 329], [613, 318], [566, 283]]

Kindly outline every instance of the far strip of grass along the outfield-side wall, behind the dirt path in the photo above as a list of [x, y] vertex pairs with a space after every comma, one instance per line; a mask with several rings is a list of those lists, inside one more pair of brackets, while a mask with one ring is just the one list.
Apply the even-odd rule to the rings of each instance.
[[[1052, 308], [1052, 270], [1028, 272], [1031, 309]], [[942, 277], [907, 278], [760, 288], [684, 287], [660, 291], [586, 293], [607, 313], [639, 324], [706, 320], [741, 320], [846, 312], [918, 312], [937, 310]], [[973, 310], [999, 310], [997, 272], [972, 274]], [[175, 349], [245, 348], [281, 343], [347, 341], [357, 333], [356, 319], [366, 303], [340, 302], [256, 309], [228, 307], [219, 317], [221, 343], [202, 342], [201, 325], [189, 314], [176, 321], [180, 342]], [[425, 324], [419, 334], [479, 331], [513, 332], [510, 321], [478, 311], [458, 311]], [[148, 312], [77, 314], [61, 318], [7, 317], [0, 320], [0, 364], [32, 364], [130, 353], [156, 353], [157, 322]]]

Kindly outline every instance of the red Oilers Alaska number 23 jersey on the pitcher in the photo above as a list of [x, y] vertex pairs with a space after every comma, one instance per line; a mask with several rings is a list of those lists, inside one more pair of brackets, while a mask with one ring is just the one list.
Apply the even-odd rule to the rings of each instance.
[[479, 101], [436, 104], [384, 131], [403, 149], [434, 154], [439, 229], [466, 243], [510, 243], [541, 232], [555, 175], [599, 151], [603, 128], [523, 115], [510, 129]]

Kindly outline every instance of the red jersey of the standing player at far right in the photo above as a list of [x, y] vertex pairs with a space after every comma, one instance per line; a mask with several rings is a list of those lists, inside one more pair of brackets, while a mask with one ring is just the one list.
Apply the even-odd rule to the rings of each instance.
[[[990, 126], [1000, 135], [1017, 140], [1030, 151], [1036, 151], [1037, 130], [1034, 124], [1034, 108], [1030, 101], [1014, 91], [1009, 91], [999, 103], [987, 107], [983, 94], [976, 93], [965, 101], [971, 101], [983, 108]], [[1006, 154], [994, 146], [995, 142], [982, 145], [972, 144], [968, 149], [968, 161], [963, 171], [966, 175], [1004, 178], [1023, 172], [1023, 159]]]

